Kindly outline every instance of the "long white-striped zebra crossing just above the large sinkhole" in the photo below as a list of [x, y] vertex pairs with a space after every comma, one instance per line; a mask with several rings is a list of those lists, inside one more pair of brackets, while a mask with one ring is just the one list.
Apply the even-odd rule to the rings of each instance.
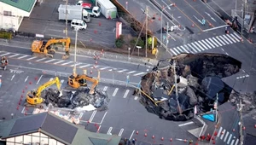
[[200, 53], [207, 49], [214, 49], [229, 44], [236, 44], [241, 42], [240, 36], [236, 32], [230, 34], [224, 34], [213, 38], [206, 38], [203, 40], [195, 41], [190, 44], [183, 44], [175, 48], [170, 49], [173, 55], [179, 55], [181, 53]]

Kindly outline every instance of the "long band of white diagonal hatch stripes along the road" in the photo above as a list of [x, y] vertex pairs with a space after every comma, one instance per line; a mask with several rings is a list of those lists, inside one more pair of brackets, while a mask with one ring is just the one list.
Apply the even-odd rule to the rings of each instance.
[[[23, 55], [23, 54], [17, 54], [17, 53], [10, 53], [6, 51], [0, 51], [0, 56], [6, 56], [11, 59], [18, 59], [23, 61], [36, 61], [41, 63], [50, 63], [53, 65], [58, 65], [62, 67], [73, 67], [74, 62], [73, 61], [63, 61], [58, 59], [50, 59], [50, 58], [41, 58], [37, 56], [32, 55]], [[145, 72], [139, 72], [139, 71], [132, 71], [128, 69], [122, 69], [122, 68], [114, 68], [114, 67], [108, 67], [108, 66], [101, 66], [101, 65], [94, 65], [94, 64], [87, 64], [82, 62], [77, 62], [76, 66], [81, 69], [98, 69], [99, 71], [108, 71], [113, 73], [125, 73], [133, 76], [143, 76], [146, 74]]]

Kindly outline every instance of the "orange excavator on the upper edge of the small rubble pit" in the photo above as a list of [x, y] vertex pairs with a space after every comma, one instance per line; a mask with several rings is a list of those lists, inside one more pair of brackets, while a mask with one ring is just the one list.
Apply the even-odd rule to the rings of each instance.
[[[75, 69], [74, 69], [75, 70]], [[73, 89], [79, 89], [82, 86], [87, 86], [87, 80], [92, 83], [90, 87], [90, 95], [95, 93], [96, 85], [99, 84], [100, 72], [98, 72], [97, 78], [92, 78], [86, 75], [86, 71], [84, 70], [84, 74], [79, 75], [76, 71], [73, 71], [73, 74], [68, 77], [67, 84], [71, 86]]]

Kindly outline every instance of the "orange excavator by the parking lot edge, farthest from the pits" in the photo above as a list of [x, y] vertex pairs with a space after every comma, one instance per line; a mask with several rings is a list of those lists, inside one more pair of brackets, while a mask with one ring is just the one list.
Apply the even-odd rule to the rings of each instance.
[[53, 48], [52, 45], [60, 43], [65, 44], [66, 54], [62, 56], [62, 59], [66, 60], [69, 57], [70, 38], [51, 38], [48, 41], [34, 40], [31, 48], [32, 55], [53, 58], [55, 48]]

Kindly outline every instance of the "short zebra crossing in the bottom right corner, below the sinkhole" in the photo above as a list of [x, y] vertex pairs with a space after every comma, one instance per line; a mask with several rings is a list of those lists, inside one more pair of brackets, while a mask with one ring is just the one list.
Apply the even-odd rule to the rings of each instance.
[[218, 130], [217, 138], [222, 140], [224, 144], [227, 145], [238, 145], [239, 139], [234, 136], [232, 132], [225, 130], [223, 127], [220, 127]]

